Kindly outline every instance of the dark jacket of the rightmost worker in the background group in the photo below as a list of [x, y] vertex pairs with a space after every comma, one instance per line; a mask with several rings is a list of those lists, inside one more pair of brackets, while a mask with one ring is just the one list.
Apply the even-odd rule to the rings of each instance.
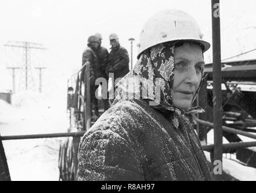
[[110, 63], [107, 72], [114, 73], [114, 79], [122, 78], [129, 72], [129, 55], [125, 48], [117, 46], [110, 51]]

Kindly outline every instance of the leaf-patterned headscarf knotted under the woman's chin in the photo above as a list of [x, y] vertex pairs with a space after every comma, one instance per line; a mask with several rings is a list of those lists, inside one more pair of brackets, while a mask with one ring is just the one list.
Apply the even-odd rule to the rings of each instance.
[[[174, 80], [174, 49], [175, 45], [171, 42], [160, 43], [146, 49], [140, 55], [133, 70], [116, 84], [116, 89], [119, 93], [117, 98], [129, 98], [135, 95], [135, 97], [149, 101], [149, 105], [151, 103], [151, 107], [154, 109], [162, 112], [166, 112], [166, 110], [174, 112], [171, 113], [171, 120], [174, 127], [178, 128], [180, 116], [188, 121], [185, 114], [201, 113], [204, 110], [201, 107], [190, 107], [188, 110], [182, 110], [173, 104], [171, 91]], [[203, 70], [200, 86], [202, 81]], [[197, 89], [195, 96], [199, 89]], [[156, 101], [159, 92], [160, 101]], [[192, 102], [194, 102], [195, 96]], [[157, 105], [153, 105], [152, 101], [156, 101]]]

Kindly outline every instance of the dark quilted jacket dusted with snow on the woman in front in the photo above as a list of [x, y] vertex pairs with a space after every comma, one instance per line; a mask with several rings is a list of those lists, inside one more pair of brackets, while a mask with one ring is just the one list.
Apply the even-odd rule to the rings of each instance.
[[120, 100], [80, 141], [77, 180], [211, 180], [189, 128], [174, 128], [143, 100]]

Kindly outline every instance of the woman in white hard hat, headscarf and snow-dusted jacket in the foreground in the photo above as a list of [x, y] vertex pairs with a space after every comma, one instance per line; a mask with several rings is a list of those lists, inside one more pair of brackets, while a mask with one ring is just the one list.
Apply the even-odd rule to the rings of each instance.
[[192, 103], [209, 46], [183, 11], [149, 18], [134, 69], [117, 83], [113, 106], [80, 142], [78, 180], [211, 180], [187, 117], [203, 112]]

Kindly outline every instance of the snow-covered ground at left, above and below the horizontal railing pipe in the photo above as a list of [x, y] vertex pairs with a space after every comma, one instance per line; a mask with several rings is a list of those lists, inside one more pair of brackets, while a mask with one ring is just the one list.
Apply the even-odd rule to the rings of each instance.
[[[67, 132], [66, 98], [36, 92], [13, 95], [13, 104], [0, 100], [0, 133]], [[59, 180], [59, 144], [64, 138], [3, 141], [11, 180]]]

